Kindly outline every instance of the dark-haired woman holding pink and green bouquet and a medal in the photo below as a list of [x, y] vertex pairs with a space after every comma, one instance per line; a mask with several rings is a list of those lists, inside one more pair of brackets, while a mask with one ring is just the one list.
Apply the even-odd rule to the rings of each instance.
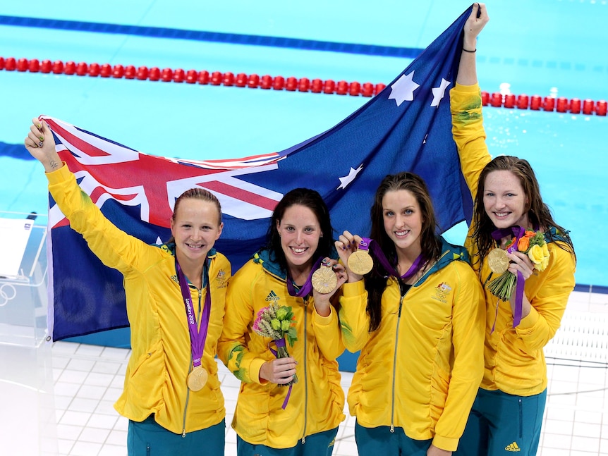
[[[336, 358], [344, 345], [330, 303], [346, 272], [337, 264], [329, 211], [314, 190], [291, 190], [272, 214], [266, 247], [229, 283], [218, 356], [242, 381], [232, 422], [238, 456], [329, 456], [344, 419]], [[329, 292], [311, 290], [322, 260], [336, 274]], [[277, 359], [254, 331], [270, 303], [291, 307], [298, 340]], [[291, 390], [284, 386], [297, 373]]]

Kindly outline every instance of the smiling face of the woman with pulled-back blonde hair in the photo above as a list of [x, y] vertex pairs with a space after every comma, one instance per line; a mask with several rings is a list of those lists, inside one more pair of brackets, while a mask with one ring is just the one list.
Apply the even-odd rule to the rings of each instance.
[[201, 266], [223, 227], [215, 204], [196, 198], [183, 199], [171, 218], [179, 264]]

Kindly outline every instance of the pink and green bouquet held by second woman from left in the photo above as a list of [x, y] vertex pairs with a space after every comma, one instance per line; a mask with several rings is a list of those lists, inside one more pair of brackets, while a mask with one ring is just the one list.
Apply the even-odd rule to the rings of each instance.
[[[253, 322], [253, 331], [265, 338], [271, 338], [276, 343], [276, 357], [288, 358], [285, 339], [290, 347], [298, 340], [296, 333], [296, 317], [291, 312], [291, 307], [279, 306], [272, 302], [268, 307], [263, 307], [257, 312], [257, 317]], [[289, 386], [298, 383], [298, 376], [294, 375], [293, 380], [285, 383]]]

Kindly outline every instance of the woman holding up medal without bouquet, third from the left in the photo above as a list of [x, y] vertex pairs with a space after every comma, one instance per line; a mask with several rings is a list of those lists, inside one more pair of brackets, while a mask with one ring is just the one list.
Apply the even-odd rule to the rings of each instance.
[[[387, 175], [371, 218], [373, 269], [362, 281], [347, 266], [339, 312], [346, 348], [361, 351], [348, 390], [359, 455], [451, 455], [483, 371], [480, 283], [466, 250], [435, 234], [418, 175]], [[344, 264], [361, 240], [336, 241]]]

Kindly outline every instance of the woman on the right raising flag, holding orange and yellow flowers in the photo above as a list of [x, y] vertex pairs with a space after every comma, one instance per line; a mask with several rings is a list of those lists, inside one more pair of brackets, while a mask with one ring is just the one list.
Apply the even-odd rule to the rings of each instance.
[[[528, 161], [515, 156], [491, 159], [485, 144], [480, 87], [475, 68], [477, 36], [489, 20], [475, 4], [464, 27], [456, 87], [450, 92], [454, 140], [475, 202], [467, 248], [485, 288], [487, 327], [485, 370], [458, 455], [533, 456], [540, 439], [547, 394], [543, 347], [554, 336], [574, 287], [576, 257], [566, 230], [542, 202]], [[514, 228], [514, 230], [513, 230]], [[509, 300], [492, 295], [496, 277], [488, 255], [506, 249], [518, 230], [542, 231], [549, 262], [537, 271], [522, 252], [507, 253], [509, 271], [523, 293]]]

